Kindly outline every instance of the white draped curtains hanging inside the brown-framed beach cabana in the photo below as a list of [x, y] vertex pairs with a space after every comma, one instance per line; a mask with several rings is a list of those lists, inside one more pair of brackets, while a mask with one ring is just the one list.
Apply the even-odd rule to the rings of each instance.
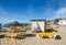
[[42, 32], [45, 31], [45, 22], [44, 21], [32, 21], [31, 22], [31, 30], [34, 31], [34, 29], [37, 29], [37, 24]]

